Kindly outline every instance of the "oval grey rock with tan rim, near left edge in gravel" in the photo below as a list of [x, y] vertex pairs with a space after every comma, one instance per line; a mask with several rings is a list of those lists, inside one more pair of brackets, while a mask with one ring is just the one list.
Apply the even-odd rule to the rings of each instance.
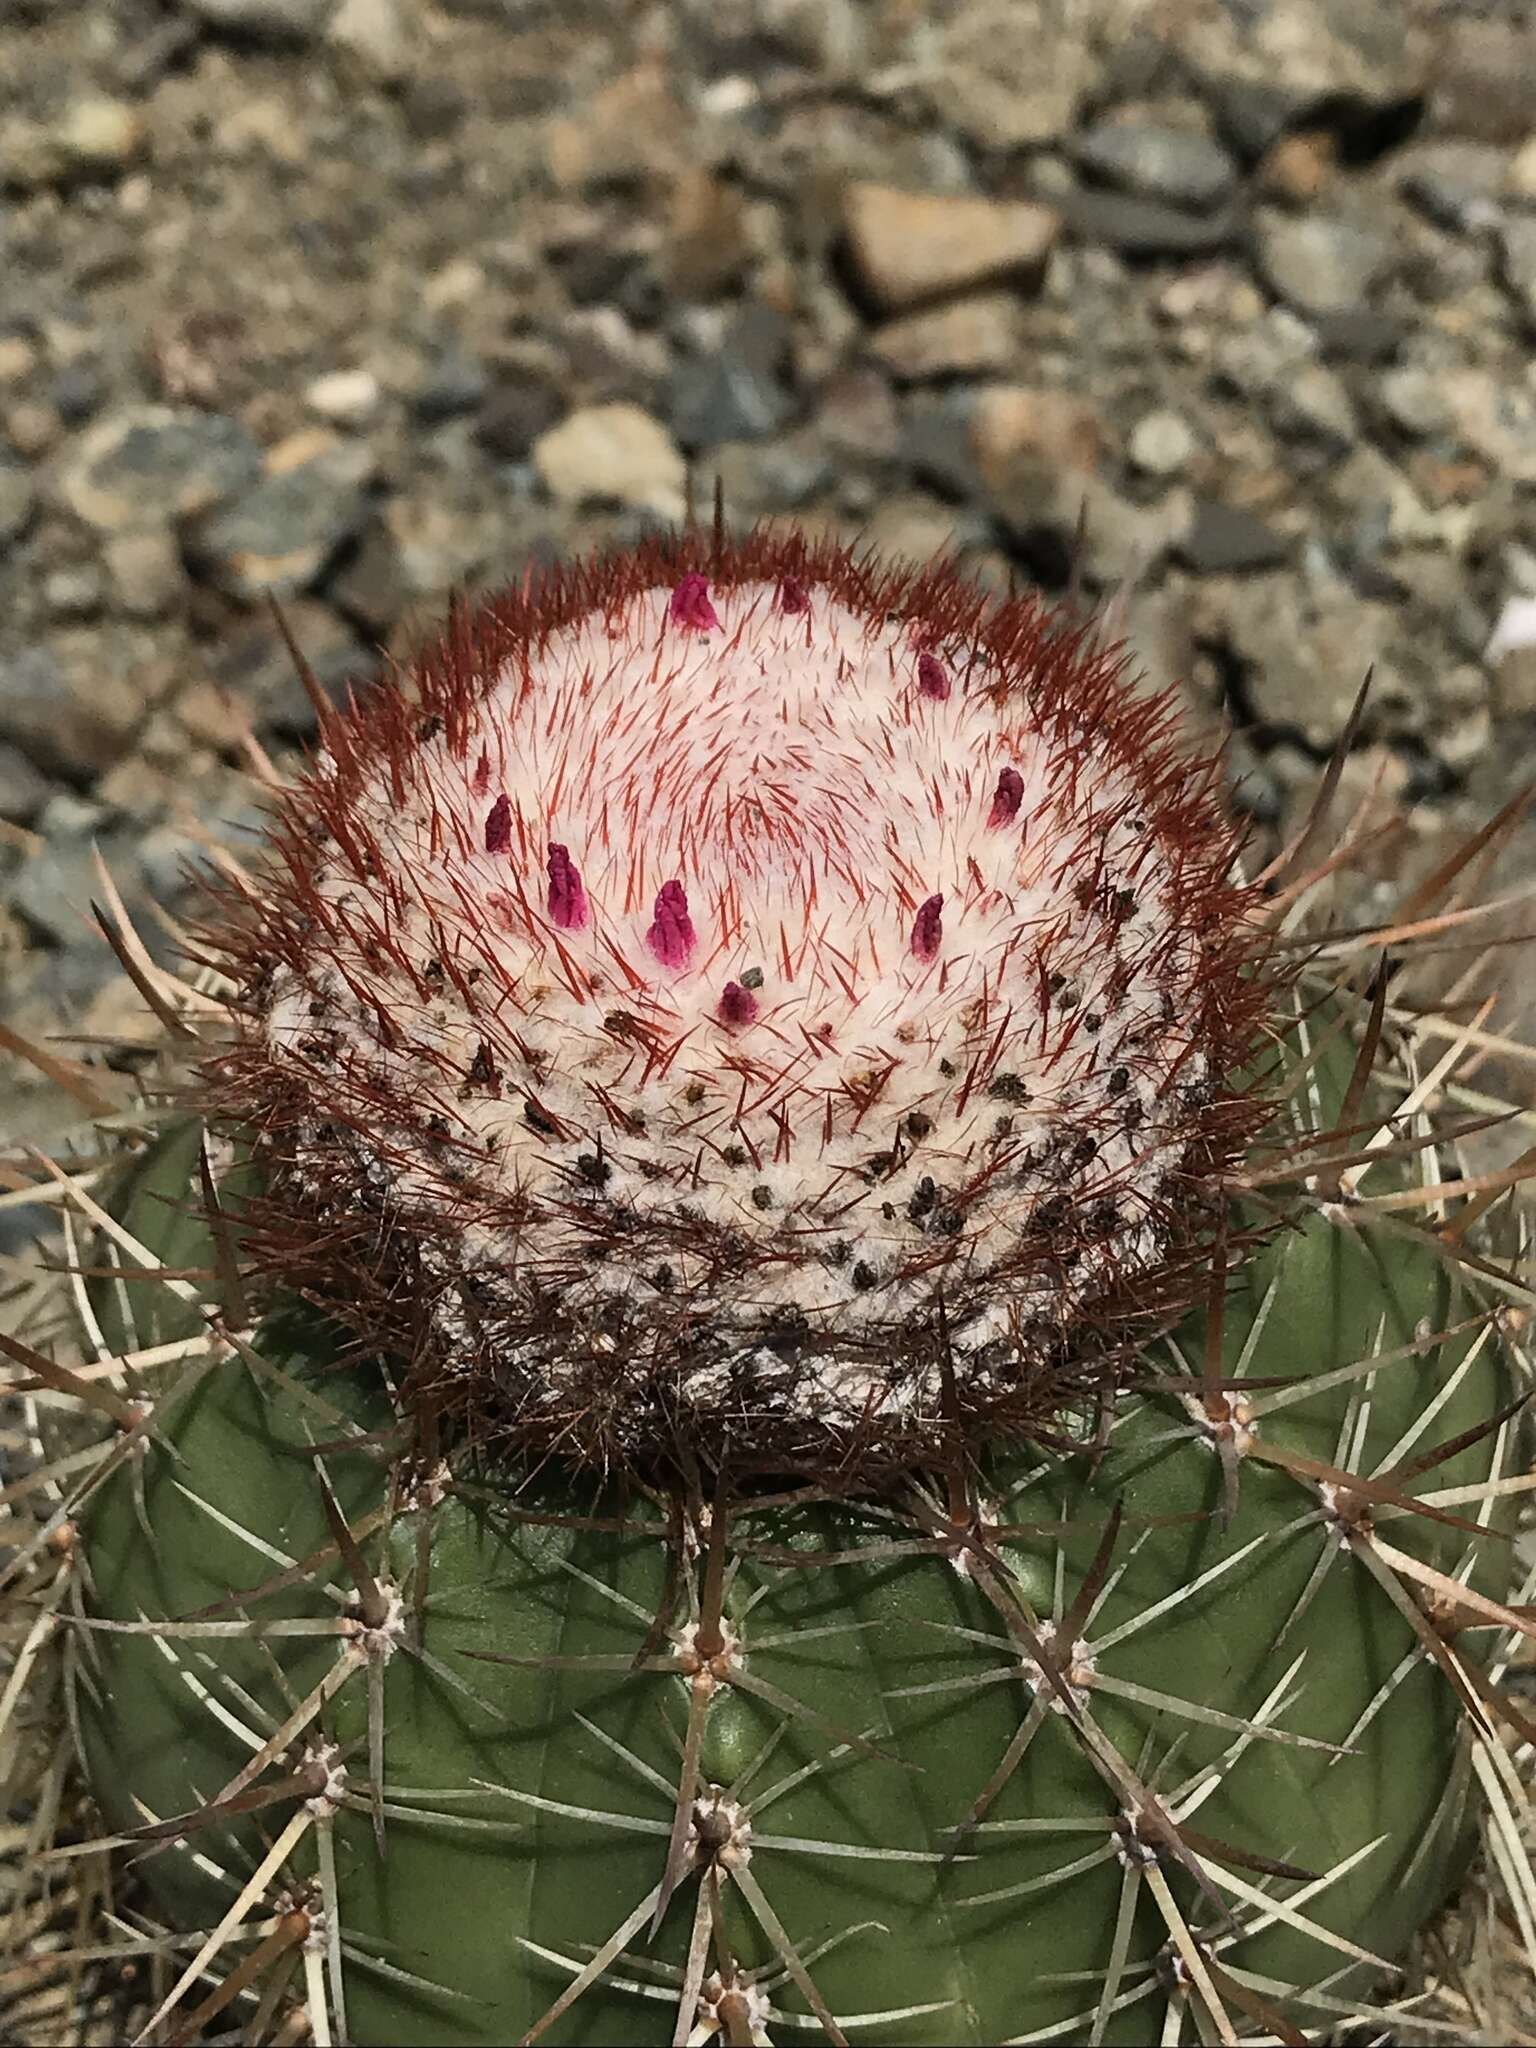
[[260, 449], [240, 420], [133, 406], [80, 438], [59, 494], [88, 526], [113, 530], [207, 512], [254, 483], [260, 467]]

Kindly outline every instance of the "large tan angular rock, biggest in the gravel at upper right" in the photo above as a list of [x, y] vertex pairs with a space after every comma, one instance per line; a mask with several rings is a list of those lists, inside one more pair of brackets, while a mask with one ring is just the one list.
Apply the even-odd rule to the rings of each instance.
[[842, 229], [862, 295], [895, 313], [977, 285], [1038, 291], [1059, 221], [1026, 199], [850, 184]]

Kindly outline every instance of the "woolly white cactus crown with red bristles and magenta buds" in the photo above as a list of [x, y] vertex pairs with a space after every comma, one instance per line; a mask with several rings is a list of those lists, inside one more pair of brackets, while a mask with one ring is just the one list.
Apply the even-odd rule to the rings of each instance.
[[[1268, 999], [1212, 764], [1032, 600], [719, 537], [461, 616], [207, 938], [268, 1251], [477, 1442], [866, 1477], [1178, 1307]], [[319, 1227], [319, 1229], [315, 1229]]]

